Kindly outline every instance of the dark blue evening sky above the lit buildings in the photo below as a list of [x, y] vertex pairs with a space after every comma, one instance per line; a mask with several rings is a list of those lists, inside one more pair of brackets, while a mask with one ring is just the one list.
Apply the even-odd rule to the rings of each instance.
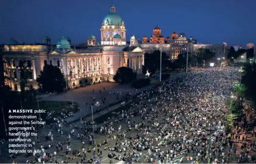
[[100, 41], [111, 5], [125, 22], [126, 38], [149, 38], [158, 25], [165, 38], [184, 32], [208, 44], [256, 43], [256, 0], [1, 0], [0, 43], [11, 37], [20, 43], [42, 42], [46, 35], [52, 43], [62, 35], [82, 43], [90, 33]]

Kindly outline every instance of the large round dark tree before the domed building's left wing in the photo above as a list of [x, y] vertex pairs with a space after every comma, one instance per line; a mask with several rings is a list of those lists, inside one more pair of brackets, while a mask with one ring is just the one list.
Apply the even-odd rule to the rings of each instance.
[[53, 65], [45, 65], [37, 78], [39, 86], [48, 92], [62, 92], [66, 87], [64, 75], [61, 69]]

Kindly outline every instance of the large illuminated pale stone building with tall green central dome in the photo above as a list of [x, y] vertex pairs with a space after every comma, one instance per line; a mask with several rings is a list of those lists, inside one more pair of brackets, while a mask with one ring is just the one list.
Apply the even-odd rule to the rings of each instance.
[[96, 44], [96, 37], [90, 34], [87, 46], [71, 45], [71, 40], [62, 37], [57, 44], [51, 44], [50, 37], [45, 37], [42, 44], [19, 44], [11, 39], [5, 45], [3, 61], [5, 83], [13, 90], [20, 90], [20, 63], [29, 72], [28, 84], [37, 89], [36, 79], [44, 65], [52, 64], [59, 67], [67, 81], [68, 88], [81, 84], [113, 81], [119, 67], [132, 68], [142, 73], [144, 51], [137, 38], [132, 36], [130, 46], [126, 46], [125, 24], [110, 7], [110, 13], [101, 24], [101, 45]]

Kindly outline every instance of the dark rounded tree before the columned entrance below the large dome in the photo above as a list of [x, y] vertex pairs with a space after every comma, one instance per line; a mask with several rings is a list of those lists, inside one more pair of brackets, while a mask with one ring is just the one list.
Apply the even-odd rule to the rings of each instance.
[[115, 73], [113, 79], [117, 81], [117, 83], [125, 84], [136, 79], [136, 76], [137, 74], [134, 73], [131, 68], [120, 67], [118, 68], [117, 73]]

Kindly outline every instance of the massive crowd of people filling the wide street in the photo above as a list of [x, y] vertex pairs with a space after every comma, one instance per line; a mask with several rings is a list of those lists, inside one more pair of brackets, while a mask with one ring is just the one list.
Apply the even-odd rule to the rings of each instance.
[[[144, 90], [134, 97], [134, 102], [112, 112], [99, 124], [81, 118], [63, 125], [65, 118], [55, 119], [45, 135], [49, 144], [41, 146], [44, 153], [34, 153], [34, 159], [26, 162], [254, 162], [251, 153], [255, 142], [248, 144], [246, 134], [255, 134], [255, 129], [239, 123], [231, 134], [225, 131], [229, 108], [226, 102], [239, 78], [236, 68], [205, 68]], [[125, 95], [131, 97], [131, 93]], [[53, 133], [65, 141], [56, 142]], [[72, 146], [73, 140], [82, 147]], [[242, 147], [237, 145], [240, 141]], [[39, 138], [36, 142], [40, 145]], [[65, 158], [58, 158], [60, 153]]]

